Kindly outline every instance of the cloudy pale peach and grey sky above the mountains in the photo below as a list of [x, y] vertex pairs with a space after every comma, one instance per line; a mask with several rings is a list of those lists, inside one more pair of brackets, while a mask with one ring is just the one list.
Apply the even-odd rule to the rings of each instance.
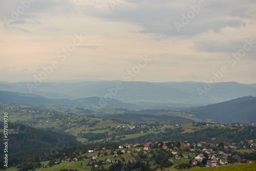
[[256, 1], [0, 1], [0, 81], [256, 83]]

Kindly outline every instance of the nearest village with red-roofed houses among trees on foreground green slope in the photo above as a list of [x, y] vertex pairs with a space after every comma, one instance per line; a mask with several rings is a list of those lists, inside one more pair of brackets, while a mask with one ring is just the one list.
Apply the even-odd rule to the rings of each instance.
[[[248, 140], [252, 152], [255, 150], [253, 140]], [[224, 147], [224, 148], [223, 148]], [[119, 144], [118, 148], [94, 148], [89, 149], [86, 153], [74, 152], [71, 156], [61, 156], [54, 159], [53, 165], [48, 163], [41, 167], [51, 167], [63, 162], [88, 161], [87, 165], [94, 168], [108, 164], [125, 161], [125, 154], [132, 156], [145, 156], [144, 161], [156, 160], [156, 151], [163, 149], [164, 153], [169, 154], [167, 161], [170, 165], [186, 161], [191, 166], [200, 167], [217, 167], [224, 165], [239, 165], [244, 163], [252, 163], [251, 160], [244, 159], [239, 155], [233, 154], [236, 149], [233, 145], [211, 144], [206, 142], [189, 143], [188, 141], [163, 141], [163, 142], [148, 142], [144, 144]], [[246, 148], [244, 146], [244, 148]], [[217, 150], [216, 150], [217, 149]], [[223, 151], [219, 150], [223, 149]], [[230, 152], [230, 153], [225, 153]], [[76, 156], [76, 157], [73, 157]], [[185, 160], [184, 160], [185, 159]], [[133, 158], [136, 160], [136, 157]], [[127, 161], [126, 161], [127, 162]]]

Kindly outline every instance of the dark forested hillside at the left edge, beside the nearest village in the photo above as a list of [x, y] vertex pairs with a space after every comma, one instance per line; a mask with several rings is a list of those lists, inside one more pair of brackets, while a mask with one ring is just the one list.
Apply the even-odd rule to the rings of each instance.
[[[0, 122], [0, 126], [4, 127], [4, 123]], [[15, 130], [10, 132], [10, 130]], [[24, 151], [34, 148], [52, 148], [63, 147], [80, 144], [76, 138], [69, 134], [58, 134], [52, 131], [34, 129], [33, 127], [23, 124], [8, 124], [8, 154]], [[4, 134], [0, 133], [3, 140]], [[4, 149], [4, 143], [0, 144], [0, 148]], [[2, 155], [4, 151], [1, 151]]]

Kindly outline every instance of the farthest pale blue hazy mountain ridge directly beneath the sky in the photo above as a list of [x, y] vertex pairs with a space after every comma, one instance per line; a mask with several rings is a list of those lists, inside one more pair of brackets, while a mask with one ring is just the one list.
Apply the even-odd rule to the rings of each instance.
[[[142, 82], [131, 81], [85, 81], [77, 83], [42, 82], [33, 89], [33, 94], [48, 99], [81, 99], [87, 97], [104, 97], [109, 90], [116, 87], [116, 83], [123, 85], [113, 99], [124, 103], [148, 106], [151, 108], [165, 108], [172, 106], [201, 106], [223, 102], [244, 96], [256, 96], [256, 84], [242, 84], [238, 82], [220, 82], [200, 98], [197, 89], [204, 90], [204, 82]], [[0, 81], [0, 90], [19, 93], [30, 93], [28, 82], [8, 83]], [[33, 84], [33, 82], [31, 82]]]

